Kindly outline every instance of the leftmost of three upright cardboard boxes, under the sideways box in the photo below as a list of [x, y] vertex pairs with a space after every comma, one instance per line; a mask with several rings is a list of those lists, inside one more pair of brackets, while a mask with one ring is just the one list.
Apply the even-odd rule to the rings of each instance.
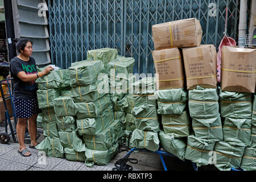
[[155, 64], [156, 89], [184, 88], [184, 67], [178, 48], [152, 51]]

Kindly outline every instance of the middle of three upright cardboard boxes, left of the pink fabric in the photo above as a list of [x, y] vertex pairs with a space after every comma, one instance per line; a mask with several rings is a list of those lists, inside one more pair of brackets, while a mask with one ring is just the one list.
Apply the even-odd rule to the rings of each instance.
[[184, 48], [183, 60], [188, 90], [195, 89], [197, 85], [216, 88], [217, 52], [213, 45]]

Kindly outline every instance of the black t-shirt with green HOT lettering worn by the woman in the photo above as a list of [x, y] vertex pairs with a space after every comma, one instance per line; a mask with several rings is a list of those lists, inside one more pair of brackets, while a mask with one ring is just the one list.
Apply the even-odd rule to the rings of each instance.
[[13, 77], [13, 93], [15, 98], [32, 99], [36, 98], [37, 85], [35, 81], [24, 82], [18, 78], [18, 73], [24, 71], [27, 75], [37, 73], [35, 59], [23, 61], [18, 57], [11, 59], [10, 72]]

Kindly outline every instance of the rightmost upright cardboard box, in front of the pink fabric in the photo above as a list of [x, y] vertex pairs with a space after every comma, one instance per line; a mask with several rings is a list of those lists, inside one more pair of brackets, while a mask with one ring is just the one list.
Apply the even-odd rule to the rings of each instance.
[[221, 52], [221, 89], [255, 93], [256, 48], [224, 46]]

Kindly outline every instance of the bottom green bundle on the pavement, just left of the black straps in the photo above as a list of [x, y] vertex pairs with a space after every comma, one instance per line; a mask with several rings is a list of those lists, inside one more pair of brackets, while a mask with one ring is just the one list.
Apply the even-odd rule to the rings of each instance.
[[115, 143], [113, 147], [110, 147], [109, 150], [100, 151], [100, 150], [91, 150], [86, 148], [85, 151], [85, 165], [87, 167], [93, 167], [94, 164], [99, 166], [106, 166], [110, 163], [110, 160], [118, 151], [118, 143]]

